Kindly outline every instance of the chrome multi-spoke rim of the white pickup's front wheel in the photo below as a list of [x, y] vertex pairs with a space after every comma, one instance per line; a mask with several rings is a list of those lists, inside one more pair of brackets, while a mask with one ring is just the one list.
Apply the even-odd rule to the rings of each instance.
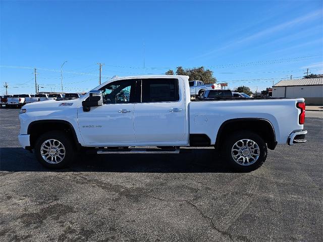
[[60, 141], [49, 139], [41, 144], [40, 154], [49, 164], [57, 164], [65, 157], [65, 147]]

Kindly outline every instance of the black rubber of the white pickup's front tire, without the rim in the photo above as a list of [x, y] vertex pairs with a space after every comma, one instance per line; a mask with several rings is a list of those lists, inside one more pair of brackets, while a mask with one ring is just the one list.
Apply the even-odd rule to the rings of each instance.
[[[41, 151], [40, 151], [41, 145], [43, 144], [43, 142], [49, 139], [55, 139], [61, 142], [65, 148], [65, 156], [62, 159], [62, 161], [60, 161], [59, 163], [55, 163], [55, 164], [48, 163], [43, 159], [41, 155]], [[72, 163], [75, 157], [75, 149], [71, 139], [61, 131], [49, 131], [41, 135], [36, 141], [34, 151], [39, 163], [50, 169], [61, 169], [61, 168], [68, 167]]]

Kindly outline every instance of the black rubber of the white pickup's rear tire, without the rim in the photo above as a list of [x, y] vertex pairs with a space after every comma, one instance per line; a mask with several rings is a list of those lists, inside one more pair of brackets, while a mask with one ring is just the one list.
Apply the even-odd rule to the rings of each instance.
[[[232, 148], [235, 145], [236, 142], [243, 140], [243, 139], [249, 139], [254, 141], [258, 147], [259, 147], [259, 157], [258, 159], [250, 165], [242, 165], [239, 164], [234, 160], [232, 157]], [[234, 153], [236, 154], [236, 153]], [[229, 165], [237, 170], [237, 171], [242, 171], [242, 172], [247, 172], [247, 171], [252, 171], [257, 168], [259, 168], [266, 160], [267, 158], [267, 146], [264, 140], [257, 135], [254, 132], [251, 131], [240, 131], [237, 133], [233, 133], [228, 136], [228, 138], [224, 142], [224, 154], [223, 154], [228, 161]]]

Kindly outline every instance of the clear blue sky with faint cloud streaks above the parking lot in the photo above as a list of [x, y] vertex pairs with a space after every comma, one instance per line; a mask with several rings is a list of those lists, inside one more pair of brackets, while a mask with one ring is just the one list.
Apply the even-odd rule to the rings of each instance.
[[102, 80], [204, 66], [232, 89], [262, 90], [323, 73], [322, 3], [1, 1], [0, 81], [34, 93], [36, 67], [40, 91], [59, 91], [67, 61], [64, 91], [88, 91], [100, 62]]

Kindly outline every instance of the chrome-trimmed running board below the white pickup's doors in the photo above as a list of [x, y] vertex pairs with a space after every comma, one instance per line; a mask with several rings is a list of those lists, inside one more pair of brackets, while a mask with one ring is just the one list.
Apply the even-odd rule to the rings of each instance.
[[179, 149], [104, 149], [97, 154], [178, 154]]

